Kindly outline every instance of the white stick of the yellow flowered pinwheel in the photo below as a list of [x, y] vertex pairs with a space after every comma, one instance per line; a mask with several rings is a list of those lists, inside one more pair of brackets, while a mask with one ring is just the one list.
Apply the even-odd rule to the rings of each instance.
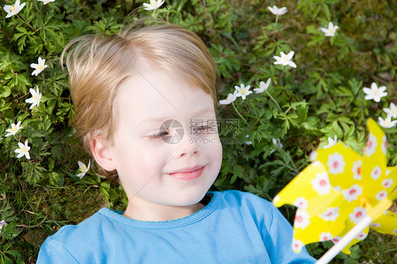
[[[396, 190], [397, 191], [397, 190]], [[396, 194], [397, 192], [394, 191], [393, 194]], [[326, 264], [329, 263], [333, 258], [335, 258], [336, 255], [340, 251], [343, 250], [348, 244], [355, 239], [355, 237], [362, 232], [362, 230], [366, 229], [369, 224], [371, 224], [374, 220], [377, 220], [377, 218], [388, 208], [390, 208], [392, 202], [389, 198], [384, 198], [381, 200], [374, 208], [371, 208], [371, 205], [369, 203], [365, 203], [365, 207], [367, 207], [368, 210], [368, 215], [366, 215], [360, 222], [358, 222], [355, 227], [350, 229], [348, 233], [343, 236], [340, 241], [338, 241], [335, 245], [333, 245], [332, 248], [330, 248], [317, 262], [316, 264]]]

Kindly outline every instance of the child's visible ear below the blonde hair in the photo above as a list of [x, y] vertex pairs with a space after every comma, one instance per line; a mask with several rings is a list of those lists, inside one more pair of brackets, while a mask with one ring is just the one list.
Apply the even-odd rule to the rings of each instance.
[[112, 155], [110, 155], [105, 140], [102, 140], [100, 136], [97, 136], [96, 138], [92, 138], [90, 140], [89, 145], [95, 161], [98, 165], [100, 165], [100, 167], [106, 169], [109, 172], [116, 169]]

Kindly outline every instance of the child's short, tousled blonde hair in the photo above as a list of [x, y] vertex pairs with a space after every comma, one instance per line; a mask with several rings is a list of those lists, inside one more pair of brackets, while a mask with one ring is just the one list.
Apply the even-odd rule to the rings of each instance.
[[[90, 152], [90, 140], [101, 136], [112, 144], [114, 98], [119, 86], [135, 71], [134, 64], [144, 59], [150, 67], [182, 78], [192, 88], [201, 88], [218, 104], [219, 77], [213, 57], [194, 32], [177, 25], [146, 26], [136, 30], [134, 23], [119, 35], [84, 35], [71, 40], [66, 52], [71, 97], [76, 116], [72, 125], [83, 147]], [[97, 174], [110, 180], [117, 172], [97, 166]]]

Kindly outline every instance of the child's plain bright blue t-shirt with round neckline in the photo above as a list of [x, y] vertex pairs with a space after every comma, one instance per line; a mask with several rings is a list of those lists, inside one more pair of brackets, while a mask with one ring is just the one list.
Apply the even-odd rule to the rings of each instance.
[[292, 251], [292, 227], [268, 201], [241, 191], [209, 192], [205, 208], [145, 222], [102, 208], [49, 236], [37, 263], [314, 263]]

